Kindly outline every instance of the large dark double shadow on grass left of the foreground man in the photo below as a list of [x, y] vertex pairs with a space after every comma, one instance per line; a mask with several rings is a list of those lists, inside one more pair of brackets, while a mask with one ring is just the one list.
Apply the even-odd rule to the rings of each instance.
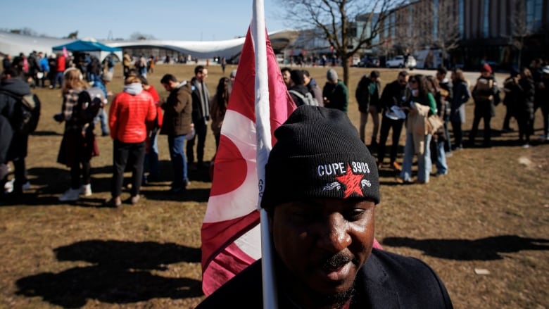
[[169, 264], [200, 263], [199, 248], [156, 242], [89, 240], [54, 251], [59, 261], [85, 261], [93, 265], [18, 279], [17, 294], [42, 297], [64, 308], [82, 307], [90, 299], [125, 304], [203, 295], [199, 280], [158, 274], [168, 270]]

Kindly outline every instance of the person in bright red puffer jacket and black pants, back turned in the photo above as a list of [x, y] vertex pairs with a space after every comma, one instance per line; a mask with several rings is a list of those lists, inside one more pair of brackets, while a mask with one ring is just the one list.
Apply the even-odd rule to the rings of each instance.
[[139, 201], [139, 189], [143, 175], [145, 158], [146, 122], [156, 119], [156, 104], [149, 92], [143, 90], [137, 76], [127, 77], [124, 92], [113, 99], [108, 114], [108, 125], [113, 138], [113, 184], [112, 198], [107, 206], [122, 205], [120, 194], [124, 181], [124, 170], [128, 162], [132, 163], [132, 189], [130, 203]]

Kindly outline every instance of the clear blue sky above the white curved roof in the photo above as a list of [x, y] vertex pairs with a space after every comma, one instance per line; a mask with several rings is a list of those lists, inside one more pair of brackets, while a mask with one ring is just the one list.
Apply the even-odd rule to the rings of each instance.
[[[134, 32], [156, 39], [215, 41], [243, 36], [253, 0], [69, 0], [6, 1], [1, 30], [28, 27], [37, 34], [130, 39]], [[287, 27], [276, 0], [264, 0], [269, 32]], [[23, 17], [22, 14], [27, 14]]]

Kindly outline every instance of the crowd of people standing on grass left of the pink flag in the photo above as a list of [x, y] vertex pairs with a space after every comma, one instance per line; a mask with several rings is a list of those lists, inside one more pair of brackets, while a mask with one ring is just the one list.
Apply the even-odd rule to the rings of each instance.
[[[56, 56], [57, 63], [64, 61], [63, 65], [68, 65], [55, 79], [60, 82], [63, 102], [61, 113], [54, 115], [53, 119], [65, 123], [57, 162], [70, 168], [69, 189], [59, 196], [59, 200], [77, 201], [81, 196], [92, 195], [90, 162], [99, 155], [94, 132], [98, 122], [101, 122], [102, 135], [110, 135], [113, 139], [113, 181], [111, 198], [106, 201], [106, 206], [121, 206], [125, 170], [132, 171], [132, 179], [127, 184], [130, 190], [127, 203], [138, 203], [141, 184], [160, 179], [157, 134], [168, 136], [174, 167], [174, 179], [169, 191], [171, 194], [184, 193], [190, 184], [187, 169], [208, 168], [204, 160], [204, 147], [210, 113], [213, 114], [212, 130], [218, 142], [236, 70], [230, 73], [230, 78], [220, 80], [220, 86], [211, 98], [212, 104], [206, 85], [208, 68], [197, 65], [195, 75], [189, 82], [178, 82], [173, 75], [167, 74], [160, 80], [170, 92], [164, 101], [155, 87], [149, 84], [146, 71], [139, 68], [142, 57], [138, 58], [134, 67], [125, 68], [125, 86], [116, 95], [106, 89], [113, 79], [108, 59], [99, 63], [100, 72], [91, 72], [86, 77], [89, 70], [83, 69], [84, 55], [82, 57], [69, 58], [63, 53]], [[7, 188], [8, 184], [10, 187], [1, 191], [2, 200], [17, 198], [23, 194], [23, 189], [30, 187], [25, 168], [30, 132], [23, 134], [15, 130], [15, 122], [20, 121], [15, 110], [17, 106], [23, 106], [21, 100], [31, 94], [30, 86], [34, 84], [33, 75], [27, 74], [32, 70], [25, 70], [19, 58], [13, 62], [4, 59], [4, 66], [0, 84], [0, 179], [1, 187]], [[94, 98], [99, 98], [100, 103], [95, 104]], [[107, 115], [106, 103], [109, 99], [111, 108], [108, 108]], [[8, 181], [9, 162], [13, 162], [15, 168], [15, 177], [11, 181]]]

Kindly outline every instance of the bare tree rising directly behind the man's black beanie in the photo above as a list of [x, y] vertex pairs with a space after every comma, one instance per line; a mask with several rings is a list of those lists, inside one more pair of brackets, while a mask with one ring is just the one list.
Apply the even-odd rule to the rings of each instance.
[[289, 24], [302, 30], [315, 29], [314, 33], [332, 46], [341, 58], [345, 84], [349, 80], [349, 60], [358, 51], [373, 46], [386, 15], [402, 3], [403, 0], [279, 0]]

